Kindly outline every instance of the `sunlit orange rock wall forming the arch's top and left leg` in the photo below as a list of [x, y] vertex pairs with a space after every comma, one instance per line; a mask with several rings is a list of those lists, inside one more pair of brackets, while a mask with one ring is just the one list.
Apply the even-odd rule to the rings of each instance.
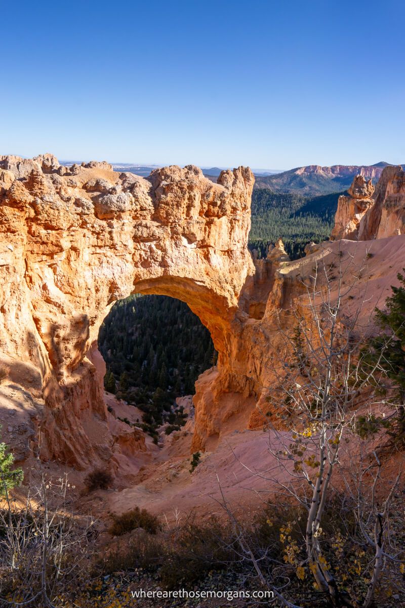
[[0, 157], [0, 348], [41, 371], [43, 455], [84, 468], [107, 458], [103, 390], [87, 357], [112, 303], [132, 292], [188, 303], [228, 369], [243, 286], [250, 169], [218, 183], [189, 165], [148, 180], [50, 154]]

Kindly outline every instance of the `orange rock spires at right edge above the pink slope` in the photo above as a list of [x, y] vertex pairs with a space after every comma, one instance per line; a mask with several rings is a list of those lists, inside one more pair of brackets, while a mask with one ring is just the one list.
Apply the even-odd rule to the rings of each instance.
[[372, 240], [405, 232], [405, 179], [403, 168], [386, 167], [376, 188], [357, 175], [349, 196], [339, 196], [332, 238]]

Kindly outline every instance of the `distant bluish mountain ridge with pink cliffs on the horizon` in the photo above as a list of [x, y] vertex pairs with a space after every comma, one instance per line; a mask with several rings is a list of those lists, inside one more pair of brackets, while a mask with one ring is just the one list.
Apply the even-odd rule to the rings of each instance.
[[256, 176], [255, 188], [270, 188], [273, 192], [299, 193], [304, 196], [331, 194], [349, 188], [358, 174], [375, 183], [384, 167], [389, 165], [384, 161], [375, 165], [307, 165], [276, 175]]

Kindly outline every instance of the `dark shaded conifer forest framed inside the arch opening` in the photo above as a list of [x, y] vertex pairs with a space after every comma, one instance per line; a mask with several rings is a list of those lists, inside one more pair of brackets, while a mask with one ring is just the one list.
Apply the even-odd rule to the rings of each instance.
[[106, 389], [140, 407], [148, 424], [160, 423], [176, 397], [194, 393], [200, 373], [216, 363], [200, 319], [164, 295], [130, 295], [115, 303], [98, 347], [107, 364]]

